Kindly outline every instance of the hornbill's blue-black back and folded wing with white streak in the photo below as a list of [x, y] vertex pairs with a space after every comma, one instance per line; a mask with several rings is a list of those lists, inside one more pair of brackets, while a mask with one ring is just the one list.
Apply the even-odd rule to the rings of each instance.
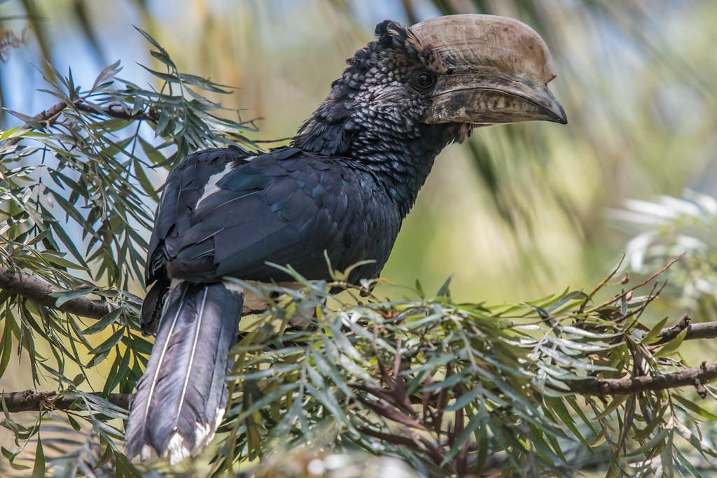
[[156, 214], [148, 279], [166, 268], [191, 282], [223, 276], [285, 280], [271, 264], [308, 279], [329, 266], [349, 279], [376, 277], [401, 217], [374, 173], [356, 161], [279, 148], [251, 158], [238, 149], [206, 150], [168, 178]]

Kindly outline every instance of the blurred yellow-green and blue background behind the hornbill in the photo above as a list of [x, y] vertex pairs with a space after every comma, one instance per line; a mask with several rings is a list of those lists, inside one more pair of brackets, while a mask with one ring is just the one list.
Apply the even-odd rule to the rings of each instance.
[[466, 12], [516, 17], [546, 39], [569, 124], [483, 128], [447, 148], [384, 277], [430, 292], [454, 274], [453, 295], [493, 303], [589, 289], [628, 239], [607, 209], [716, 190], [715, 1], [9, 0], [0, 27], [24, 43], [3, 49], [1, 100], [27, 114], [52, 104], [34, 91], [43, 57], [78, 85], [115, 59], [146, 84], [136, 25], [181, 70], [237, 86], [222, 101], [260, 118], [254, 139], [287, 138], [377, 22]]

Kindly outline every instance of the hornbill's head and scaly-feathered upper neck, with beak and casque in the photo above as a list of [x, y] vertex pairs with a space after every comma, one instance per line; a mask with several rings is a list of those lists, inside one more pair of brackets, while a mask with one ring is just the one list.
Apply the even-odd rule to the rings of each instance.
[[543, 39], [521, 21], [452, 15], [404, 28], [376, 26], [376, 40], [348, 59], [331, 94], [294, 144], [361, 155], [393, 143], [440, 150], [475, 126], [546, 120], [566, 123], [548, 89], [555, 77]]

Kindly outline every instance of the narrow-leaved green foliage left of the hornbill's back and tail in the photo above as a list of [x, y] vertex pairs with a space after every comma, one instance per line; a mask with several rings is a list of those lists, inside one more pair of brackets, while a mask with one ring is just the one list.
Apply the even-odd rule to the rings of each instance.
[[[201, 95], [229, 91], [179, 72], [145, 36], [156, 47], [153, 57], [166, 67], [165, 72], [148, 69], [160, 80], [158, 90], [118, 78], [119, 62], [100, 72], [90, 90], [75, 85], [71, 71], [66, 76], [55, 71], [46, 77], [49, 89], [43, 91], [57, 105], [35, 117], [10, 111], [25, 124], [0, 130], [0, 266], [67, 290], [54, 295], [58, 307], [94, 297], [110, 310], [88, 326], [82, 317], [0, 291], [0, 375], [19, 343], [38, 388], [49, 380], [57, 382], [58, 390], [75, 393], [88, 381], [88, 370], [111, 363], [100, 390], [132, 391], [151, 349], [132, 332], [141, 300], [127, 290], [143, 275], [151, 204], [158, 197], [153, 170], [197, 149], [227, 142], [252, 145], [243, 135], [253, 130], [251, 125], [220, 118], [214, 112], [222, 106]], [[99, 343], [92, 335], [101, 337]], [[122, 434], [105, 422], [125, 412], [94, 396], [80, 393], [80, 398], [85, 408], [103, 414], [84, 418], [98, 434], [106, 461], [112, 450], [107, 444]], [[67, 422], [80, 430], [74, 414], [67, 414]], [[22, 429], [6, 415], [4, 423], [16, 436], [36, 437], [41, 449], [40, 421]], [[5, 452], [9, 459], [16, 454]]]

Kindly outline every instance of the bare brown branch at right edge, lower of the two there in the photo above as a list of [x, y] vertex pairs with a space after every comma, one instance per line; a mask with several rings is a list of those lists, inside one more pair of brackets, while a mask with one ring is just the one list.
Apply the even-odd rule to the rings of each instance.
[[717, 362], [703, 362], [699, 367], [685, 368], [664, 375], [640, 376], [633, 378], [588, 378], [573, 380], [567, 384], [570, 391], [580, 395], [628, 395], [643, 391], [666, 390], [684, 386], [695, 386], [698, 392], [703, 384], [717, 378]]

